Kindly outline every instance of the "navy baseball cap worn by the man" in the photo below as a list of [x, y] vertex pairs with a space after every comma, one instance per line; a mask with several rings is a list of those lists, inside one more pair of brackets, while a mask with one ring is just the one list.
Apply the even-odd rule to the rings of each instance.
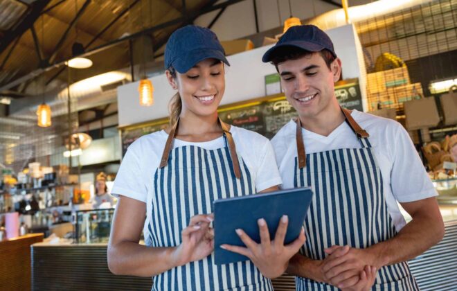
[[337, 58], [332, 39], [319, 27], [314, 25], [299, 25], [289, 28], [278, 42], [263, 55], [262, 62], [271, 62], [278, 48], [295, 46], [304, 51], [322, 51], [324, 48]]

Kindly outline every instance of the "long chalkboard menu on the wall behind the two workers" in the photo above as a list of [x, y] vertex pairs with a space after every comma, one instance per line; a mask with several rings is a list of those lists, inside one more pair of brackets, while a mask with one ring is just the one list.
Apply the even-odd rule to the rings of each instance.
[[[335, 95], [343, 107], [363, 111], [359, 82], [357, 79], [345, 80], [335, 85]], [[297, 115], [294, 107], [287, 102], [283, 94], [249, 100], [244, 103], [219, 107], [222, 121], [258, 132], [271, 139], [283, 125]], [[168, 126], [168, 118], [150, 123], [123, 127], [120, 129], [123, 156], [127, 148], [139, 137], [163, 130]]]

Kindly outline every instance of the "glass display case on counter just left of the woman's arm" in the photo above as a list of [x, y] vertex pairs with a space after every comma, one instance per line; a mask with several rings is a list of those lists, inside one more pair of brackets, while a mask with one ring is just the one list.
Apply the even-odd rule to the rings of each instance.
[[75, 243], [108, 243], [114, 208], [75, 211]]

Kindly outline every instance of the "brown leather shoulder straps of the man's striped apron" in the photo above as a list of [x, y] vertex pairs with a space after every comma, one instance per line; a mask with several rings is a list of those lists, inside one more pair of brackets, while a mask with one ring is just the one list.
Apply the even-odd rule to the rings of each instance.
[[[370, 144], [368, 143], [368, 137], [370, 134], [363, 130], [360, 125], [352, 118], [350, 115], [350, 110], [340, 107], [341, 112], [343, 112], [346, 122], [349, 124], [350, 128], [353, 132], [357, 135], [359, 140], [363, 139], [366, 143], [361, 141], [361, 144], [364, 148], [369, 147]], [[297, 144], [297, 154], [298, 154], [298, 168], [305, 168], [306, 166], [306, 152], [305, 152], [305, 143], [303, 143], [303, 135], [301, 133], [301, 121], [300, 118], [297, 117], [296, 119], [296, 144]]]

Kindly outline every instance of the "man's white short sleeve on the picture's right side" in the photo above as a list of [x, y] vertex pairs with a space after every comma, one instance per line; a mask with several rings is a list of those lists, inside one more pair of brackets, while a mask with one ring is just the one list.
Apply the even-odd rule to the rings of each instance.
[[395, 199], [413, 202], [438, 195], [409, 134], [401, 125], [389, 143], [393, 159], [391, 188]]

